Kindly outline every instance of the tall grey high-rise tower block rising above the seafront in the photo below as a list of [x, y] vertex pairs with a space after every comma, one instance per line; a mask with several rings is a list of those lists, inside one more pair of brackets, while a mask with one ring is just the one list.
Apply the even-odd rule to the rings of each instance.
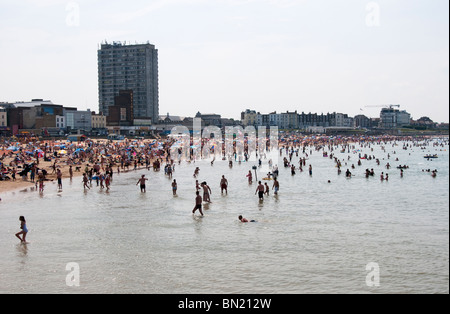
[[133, 116], [158, 121], [158, 50], [151, 44], [101, 44], [98, 86], [99, 109], [105, 116], [120, 90], [132, 90]]

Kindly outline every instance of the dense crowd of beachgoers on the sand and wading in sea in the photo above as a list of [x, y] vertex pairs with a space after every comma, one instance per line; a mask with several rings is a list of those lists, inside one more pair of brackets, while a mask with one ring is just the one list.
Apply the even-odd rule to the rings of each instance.
[[[164, 175], [170, 180], [170, 187], [173, 196], [177, 196], [178, 183], [173, 179], [175, 166], [177, 165], [176, 156], [173, 156], [171, 146], [176, 143], [173, 138], [166, 140], [128, 140], [123, 141], [108, 141], [108, 140], [86, 140], [85, 142], [70, 143], [64, 141], [43, 141], [43, 142], [20, 142], [14, 140], [3, 140], [0, 142], [0, 169], [2, 181], [15, 182], [19, 180], [33, 183], [36, 191], [44, 192], [45, 182], [57, 180], [57, 189], [62, 191], [63, 178], [68, 177], [71, 180], [75, 176], [81, 176], [81, 183], [85, 191], [90, 190], [93, 186], [99, 189], [109, 191], [113, 182], [114, 173], [137, 171], [141, 169], [153, 170], [159, 172], [162, 166], [164, 167]], [[283, 166], [290, 170], [292, 176], [297, 175], [297, 171], [302, 173], [304, 168], [308, 169], [309, 176], [313, 175], [313, 166], [308, 164], [309, 156], [313, 152], [321, 152], [324, 158], [329, 158], [337, 168], [337, 174], [340, 175], [344, 166], [348, 168], [345, 171], [346, 178], [355, 176], [355, 169], [362, 166], [364, 160], [375, 161], [377, 166], [380, 166], [383, 158], [373, 155], [373, 147], [379, 145], [381, 151], [386, 153], [386, 159], [391, 160], [391, 155], [386, 152], [386, 147], [392, 145], [396, 148], [398, 143], [401, 143], [402, 149], [410, 149], [419, 147], [425, 149], [428, 145], [441, 146], [441, 149], [448, 146], [448, 138], [444, 138], [439, 143], [433, 142], [430, 138], [411, 138], [411, 137], [394, 137], [394, 136], [380, 136], [380, 137], [365, 137], [365, 136], [350, 136], [350, 137], [333, 137], [333, 136], [302, 136], [296, 134], [284, 134], [279, 138], [279, 154], [283, 156]], [[205, 142], [202, 142], [204, 145]], [[234, 162], [245, 162], [249, 160], [250, 154], [247, 150], [247, 142], [244, 145], [244, 157], [234, 155], [218, 156], [224, 161], [228, 162], [230, 169]], [[362, 149], [370, 150], [371, 153], [362, 153]], [[171, 155], [172, 152], [172, 155]], [[342, 159], [339, 153], [347, 153], [347, 158]], [[392, 152], [391, 152], [392, 153]], [[357, 156], [356, 166], [351, 162], [351, 154]], [[393, 152], [395, 154], [395, 150]], [[293, 162], [293, 156], [298, 158], [297, 162]], [[192, 153], [183, 162], [195, 162], [198, 156]], [[202, 156], [200, 156], [202, 158]], [[274, 164], [272, 159], [266, 160], [265, 154], [258, 156], [256, 153], [256, 163], [258, 167], [263, 163], [267, 163], [270, 170], [267, 176], [262, 180], [258, 180], [255, 195], [258, 195], [260, 202], [264, 201], [264, 197], [268, 196], [270, 191], [274, 191], [274, 195], [278, 195], [280, 191], [279, 169], [278, 165]], [[211, 166], [214, 164], [215, 155], [211, 161]], [[395, 158], [395, 161], [399, 161]], [[182, 160], [178, 160], [178, 165], [181, 165]], [[249, 163], [248, 163], [249, 164]], [[351, 164], [351, 165], [349, 165]], [[257, 167], [253, 166], [253, 169]], [[381, 181], [389, 180], [388, 170], [391, 168], [389, 162], [384, 165], [386, 172], [380, 174]], [[400, 170], [400, 177], [403, 177], [404, 170], [408, 169], [408, 165], [398, 165]], [[352, 169], [352, 170], [350, 170]], [[63, 171], [64, 170], [64, 171]], [[423, 172], [430, 172], [432, 177], [436, 177], [437, 169], [424, 170]], [[199, 183], [200, 168], [195, 167], [193, 178], [195, 181], [195, 200], [192, 213], [195, 214], [197, 210], [203, 216], [202, 204], [204, 202], [211, 202], [212, 190], [205, 182]], [[363, 172], [366, 178], [374, 177], [374, 169], [365, 169]], [[252, 170], [249, 170], [246, 178], [248, 184], [253, 184]], [[141, 193], [146, 193], [146, 182], [149, 179], [145, 175], [141, 175], [136, 185], [139, 185]], [[228, 194], [228, 180], [225, 175], [218, 178], [220, 181], [220, 190], [222, 194]], [[262, 181], [265, 181], [264, 184]], [[267, 183], [271, 182], [271, 187]], [[94, 183], [93, 183], [94, 182]], [[328, 180], [330, 183], [331, 181]], [[2, 183], [4, 184], [4, 183]], [[1, 200], [1, 199], [0, 199]], [[247, 222], [245, 218], [239, 218], [242, 222]], [[26, 227], [25, 227], [26, 228]], [[25, 233], [26, 234], [26, 233]], [[25, 234], [24, 238], [25, 238]], [[24, 239], [25, 240], [25, 239]]]

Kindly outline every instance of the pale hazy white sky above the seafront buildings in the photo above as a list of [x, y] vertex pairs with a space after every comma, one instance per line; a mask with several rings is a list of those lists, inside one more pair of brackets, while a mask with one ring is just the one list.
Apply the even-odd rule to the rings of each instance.
[[449, 122], [448, 0], [0, 0], [0, 102], [98, 111], [104, 41], [156, 46], [160, 115]]

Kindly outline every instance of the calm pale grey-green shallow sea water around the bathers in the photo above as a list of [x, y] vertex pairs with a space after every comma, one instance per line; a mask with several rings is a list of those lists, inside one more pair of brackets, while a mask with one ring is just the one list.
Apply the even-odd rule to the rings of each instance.
[[[357, 166], [359, 152], [335, 149], [341, 160], [351, 156], [341, 175], [322, 152], [313, 151], [295, 176], [279, 163], [280, 193], [263, 203], [245, 177], [253, 163], [230, 169], [221, 161], [177, 166], [177, 197], [163, 172], [146, 170], [115, 173], [109, 192], [95, 183], [83, 191], [75, 178], [64, 180], [62, 193], [48, 183], [43, 194], [1, 195], [0, 293], [448, 293], [448, 146], [398, 144], [385, 152], [357, 145], [380, 166]], [[439, 158], [427, 161], [426, 153]], [[346, 179], [352, 163], [355, 176]], [[403, 178], [399, 164], [410, 167]], [[196, 166], [199, 182], [213, 190], [203, 218], [191, 213]], [[366, 168], [375, 177], [366, 179]], [[427, 168], [438, 169], [437, 177]], [[149, 178], [145, 194], [136, 186], [141, 174]], [[222, 174], [228, 195], [220, 193]], [[242, 224], [239, 214], [258, 222]], [[26, 245], [14, 237], [20, 215], [30, 231]], [[372, 262], [380, 270], [373, 287], [366, 282]], [[79, 266], [79, 286], [66, 284], [68, 263]]]

